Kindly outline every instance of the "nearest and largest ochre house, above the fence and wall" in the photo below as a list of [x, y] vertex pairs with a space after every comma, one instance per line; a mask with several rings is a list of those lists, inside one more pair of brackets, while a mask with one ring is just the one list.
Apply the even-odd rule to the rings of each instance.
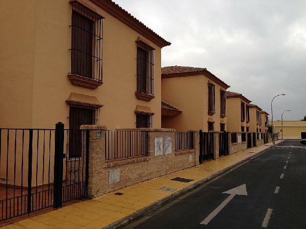
[[0, 4], [0, 126], [161, 127], [169, 42], [111, 0]]

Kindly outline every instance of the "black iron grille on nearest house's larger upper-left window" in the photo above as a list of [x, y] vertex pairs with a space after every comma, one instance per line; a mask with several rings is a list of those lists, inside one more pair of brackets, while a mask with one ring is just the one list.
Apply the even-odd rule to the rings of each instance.
[[102, 81], [103, 17], [77, 1], [71, 4], [70, 74]]

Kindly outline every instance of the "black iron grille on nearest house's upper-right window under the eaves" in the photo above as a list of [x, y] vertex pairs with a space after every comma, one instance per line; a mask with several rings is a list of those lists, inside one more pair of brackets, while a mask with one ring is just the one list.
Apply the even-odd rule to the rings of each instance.
[[137, 92], [154, 95], [154, 50], [137, 41]]

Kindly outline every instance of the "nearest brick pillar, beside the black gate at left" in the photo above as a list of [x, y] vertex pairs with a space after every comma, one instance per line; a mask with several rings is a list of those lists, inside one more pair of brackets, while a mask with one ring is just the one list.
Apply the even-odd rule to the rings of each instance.
[[106, 127], [100, 125], [82, 125], [80, 129], [89, 130], [89, 179], [88, 197], [94, 198], [103, 193], [101, 171], [105, 167], [105, 134]]

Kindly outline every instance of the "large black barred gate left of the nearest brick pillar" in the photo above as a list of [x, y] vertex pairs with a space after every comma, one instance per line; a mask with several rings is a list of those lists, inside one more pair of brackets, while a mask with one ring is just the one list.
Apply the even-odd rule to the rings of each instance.
[[88, 130], [72, 133], [62, 123], [55, 129], [1, 128], [0, 221], [86, 197], [88, 143]]

